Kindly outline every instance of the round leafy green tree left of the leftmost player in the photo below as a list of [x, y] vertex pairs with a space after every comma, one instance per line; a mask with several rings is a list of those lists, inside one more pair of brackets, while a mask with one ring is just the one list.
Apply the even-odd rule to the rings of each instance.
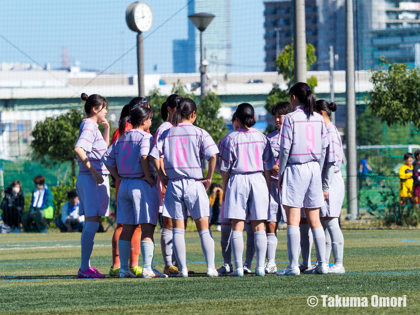
[[80, 122], [84, 112], [71, 108], [68, 112], [55, 117], [47, 117], [37, 122], [32, 131], [32, 157], [41, 164], [55, 166], [70, 162], [72, 175], [76, 176], [76, 153], [73, 148], [79, 136]]

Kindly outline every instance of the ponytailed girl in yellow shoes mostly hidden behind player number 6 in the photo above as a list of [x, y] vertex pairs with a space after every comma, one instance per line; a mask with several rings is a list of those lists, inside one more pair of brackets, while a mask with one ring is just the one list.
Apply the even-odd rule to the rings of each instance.
[[[175, 113], [179, 102], [182, 100], [181, 96], [172, 94], [169, 95], [166, 99], [165, 103], [162, 104], [162, 108], [160, 109], [160, 114], [164, 121], [163, 124], [157, 128], [155, 133], [155, 144], [157, 139], [159, 139], [160, 135], [165, 130], [168, 130], [172, 127], [172, 116]], [[165, 169], [163, 168], [163, 156], [160, 157], [160, 167], [162, 171], [165, 173]], [[162, 185], [160, 181], [160, 177], [157, 176], [157, 189], [159, 190], [159, 213], [162, 213], [163, 210], [163, 200], [165, 197], [166, 188]], [[167, 275], [176, 275], [179, 270], [176, 267], [178, 262], [176, 261], [175, 254], [172, 250], [172, 220], [169, 217], [162, 216], [163, 218], [163, 229], [160, 235], [160, 249], [162, 250], [163, 261], [165, 262], [165, 268], [163, 272]]]

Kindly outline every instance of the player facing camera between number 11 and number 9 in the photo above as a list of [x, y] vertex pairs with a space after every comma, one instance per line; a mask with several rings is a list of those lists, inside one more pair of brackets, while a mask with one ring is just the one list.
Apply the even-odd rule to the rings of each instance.
[[[291, 113], [293, 108], [289, 102], [278, 102], [271, 109], [273, 115], [274, 125], [277, 127], [276, 131], [273, 131], [267, 135], [270, 141], [271, 149], [273, 154], [278, 157], [278, 137], [280, 136], [281, 124], [283, 123], [284, 116]], [[277, 228], [278, 222], [280, 222], [281, 211], [280, 211], [280, 193], [278, 191], [278, 159], [276, 158], [276, 165], [271, 169], [271, 184], [270, 184], [270, 217], [265, 222], [265, 233], [267, 234], [267, 262], [265, 263], [265, 273], [276, 273], [276, 248], [277, 248]], [[286, 219], [284, 219], [286, 220]]]

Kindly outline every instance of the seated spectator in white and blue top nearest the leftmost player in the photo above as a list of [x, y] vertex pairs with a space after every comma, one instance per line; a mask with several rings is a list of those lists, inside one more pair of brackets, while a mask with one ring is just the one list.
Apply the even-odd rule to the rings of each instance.
[[79, 215], [79, 197], [76, 189], [67, 193], [68, 202], [61, 207], [61, 220], [55, 221], [61, 232], [81, 232], [84, 215]]

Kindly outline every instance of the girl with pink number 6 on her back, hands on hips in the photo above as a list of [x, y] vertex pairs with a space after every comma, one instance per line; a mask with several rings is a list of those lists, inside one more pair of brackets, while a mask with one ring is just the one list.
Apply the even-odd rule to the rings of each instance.
[[[172, 219], [173, 250], [181, 268], [177, 277], [184, 278], [188, 277], [184, 238], [187, 212], [197, 225], [207, 276], [220, 275], [214, 266], [214, 240], [209, 229], [210, 206], [206, 193], [219, 150], [205, 130], [193, 125], [196, 115], [194, 101], [183, 98], [172, 116], [173, 127], [162, 133], [150, 153], [162, 185], [166, 186], [162, 215]], [[161, 156], [166, 175], [160, 167]], [[206, 178], [201, 168], [203, 158], [209, 161]]]

